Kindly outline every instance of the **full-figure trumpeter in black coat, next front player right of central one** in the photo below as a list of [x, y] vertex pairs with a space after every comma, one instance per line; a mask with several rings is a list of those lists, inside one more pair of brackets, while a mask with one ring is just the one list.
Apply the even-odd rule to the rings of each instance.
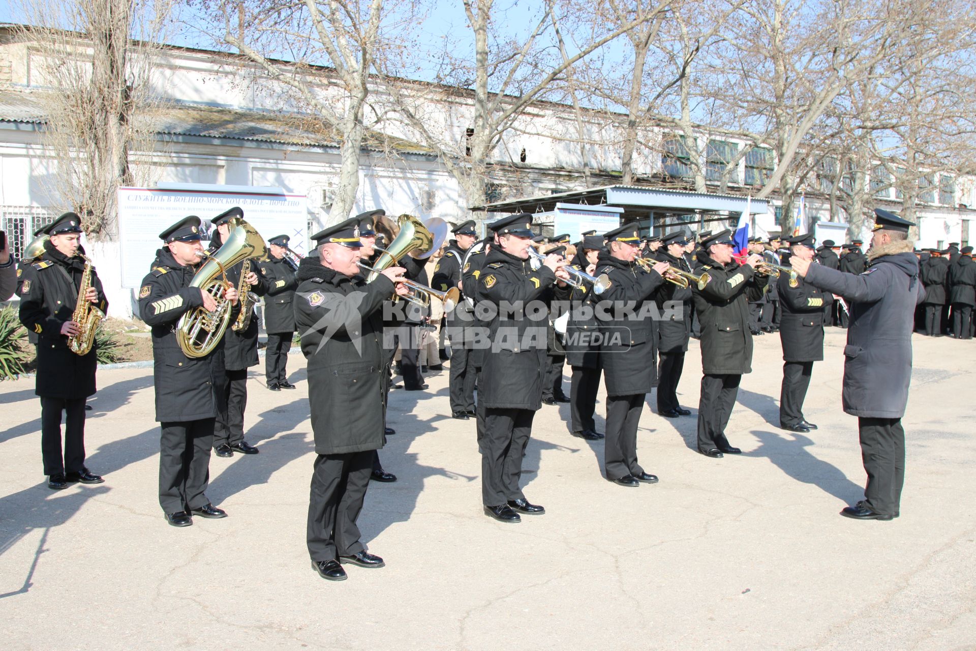
[[657, 341], [654, 313], [646, 312], [653, 292], [664, 282], [667, 263], [644, 271], [633, 263], [640, 252], [637, 226], [624, 224], [608, 231], [607, 248], [596, 262], [597, 275], [606, 274], [610, 287], [600, 295], [603, 341], [600, 364], [607, 391], [606, 436], [603, 470], [606, 478], [621, 486], [655, 483], [657, 476], [637, 463], [637, 425], [644, 397], [657, 385]]

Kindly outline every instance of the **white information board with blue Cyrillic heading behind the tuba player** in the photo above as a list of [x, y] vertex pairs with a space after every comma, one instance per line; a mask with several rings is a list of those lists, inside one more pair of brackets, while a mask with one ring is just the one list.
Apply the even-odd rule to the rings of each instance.
[[307, 200], [304, 194], [259, 194], [172, 190], [149, 187], [120, 187], [119, 239], [122, 244], [122, 286], [136, 288], [149, 272], [162, 246], [159, 233], [184, 217], [196, 215], [203, 223], [204, 239], [210, 238], [210, 220], [238, 206], [244, 219], [253, 225], [264, 241], [275, 235], [291, 238], [289, 247], [305, 255], [308, 229]]

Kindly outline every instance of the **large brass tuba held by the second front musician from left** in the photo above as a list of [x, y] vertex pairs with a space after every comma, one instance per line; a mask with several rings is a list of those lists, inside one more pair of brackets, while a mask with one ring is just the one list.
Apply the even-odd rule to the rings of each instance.
[[[183, 354], [190, 358], [204, 357], [217, 347], [230, 323], [230, 302], [224, 292], [232, 287], [227, 281], [226, 268], [247, 258], [267, 257], [267, 245], [255, 230], [239, 217], [227, 222], [230, 234], [217, 252], [200, 252], [201, 258], [209, 258], [193, 276], [190, 287], [197, 287], [214, 297], [217, 309], [208, 312], [203, 306], [194, 307], [180, 317], [177, 323], [177, 343]], [[240, 297], [243, 301], [244, 297]]]

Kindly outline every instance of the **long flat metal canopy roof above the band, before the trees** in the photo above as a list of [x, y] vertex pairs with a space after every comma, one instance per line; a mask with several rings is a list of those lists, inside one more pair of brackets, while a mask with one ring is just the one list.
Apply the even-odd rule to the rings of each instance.
[[[634, 220], [657, 226], [738, 219], [746, 210], [746, 197], [732, 194], [703, 194], [638, 185], [606, 185], [537, 197], [525, 197], [475, 206], [486, 213], [548, 213], [557, 203], [615, 206], [624, 209], [622, 222]], [[752, 215], [768, 211], [769, 202], [752, 199]]]

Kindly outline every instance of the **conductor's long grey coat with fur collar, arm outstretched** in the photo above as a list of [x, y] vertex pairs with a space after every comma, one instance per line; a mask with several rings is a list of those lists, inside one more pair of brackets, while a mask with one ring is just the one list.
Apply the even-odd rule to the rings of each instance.
[[844, 273], [811, 264], [805, 281], [850, 306], [844, 346], [844, 411], [867, 418], [902, 418], [912, 381], [912, 331], [921, 300], [911, 240], [868, 252], [868, 269]]

